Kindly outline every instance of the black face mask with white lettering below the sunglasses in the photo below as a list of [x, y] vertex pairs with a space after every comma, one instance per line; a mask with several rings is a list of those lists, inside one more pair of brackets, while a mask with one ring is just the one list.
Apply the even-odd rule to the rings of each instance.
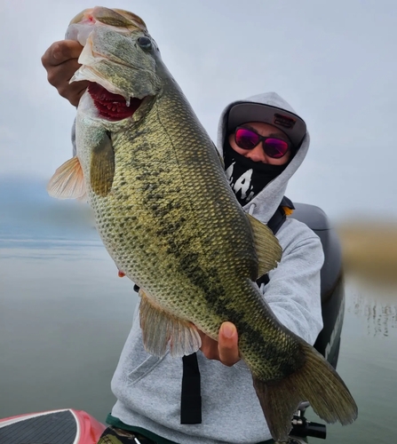
[[242, 206], [250, 202], [289, 164], [287, 162], [283, 165], [269, 165], [268, 163], [254, 162], [235, 152], [227, 139], [224, 146], [224, 159], [226, 178]]

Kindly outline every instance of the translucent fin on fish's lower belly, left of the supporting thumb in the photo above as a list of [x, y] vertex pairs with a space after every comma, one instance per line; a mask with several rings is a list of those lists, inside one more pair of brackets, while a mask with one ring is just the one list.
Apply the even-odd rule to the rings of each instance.
[[165, 312], [139, 289], [140, 328], [147, 353], [162, 357], [170, 343], [172, 356], [180, 357], [197, 352], [202, 345], [195, 326]]

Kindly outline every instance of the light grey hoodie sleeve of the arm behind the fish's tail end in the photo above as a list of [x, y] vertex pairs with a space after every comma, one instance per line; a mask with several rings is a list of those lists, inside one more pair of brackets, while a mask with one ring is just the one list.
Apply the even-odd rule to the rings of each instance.
[[[306, 232], [307, 233], [307, 232]], [[311, 230], [284, 247], [282, 260], [261, 287], [277, 319], [311, 345], [322, 330], [322, 243]]]

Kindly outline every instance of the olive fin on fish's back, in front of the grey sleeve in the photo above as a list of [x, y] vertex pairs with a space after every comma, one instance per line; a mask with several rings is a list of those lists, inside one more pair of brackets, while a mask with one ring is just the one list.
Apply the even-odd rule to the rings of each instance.
[[277, 266], [282, 258], [282, 247], [272, 230], [257, 218], [247, 214], [254, 234], [255, 247], [259, 259], [258, 277], [263, 276]]

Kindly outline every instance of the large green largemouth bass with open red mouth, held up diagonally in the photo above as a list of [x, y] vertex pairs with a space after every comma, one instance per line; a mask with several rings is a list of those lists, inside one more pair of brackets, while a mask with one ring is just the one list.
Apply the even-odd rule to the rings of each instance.
[[47, 189], [89, 202], [109, 255], [139, 286], [147, 352], [195, 353], [198, 329], [217, 340], [231, 321], [274, 440], [288, 440], [303, 400], [328, 423], [353, 422], [357, 406], [335, 369], [261, 296], [255, 281], [277, 266], [282, 248], [237, 202], [145, 22], [95, 7], [70, 22], [67, 36], [83, 44], [71, 81], [89, 87], [77, 108], [76, 155]]

